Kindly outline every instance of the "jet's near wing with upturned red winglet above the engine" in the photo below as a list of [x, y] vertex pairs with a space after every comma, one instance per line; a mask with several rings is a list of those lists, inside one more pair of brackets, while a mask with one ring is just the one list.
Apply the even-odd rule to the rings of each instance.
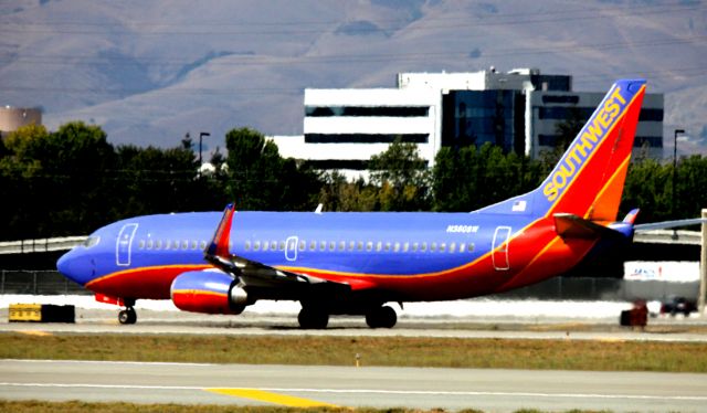
[[265, 294], [268, 297], [294, 299], [313, 290], [334, 289], [338, 293], [351, 290], [351, 286], [348, 284], [334, 283], [306, 274], [278, 269], [231, 254], [231, 227], [234, 216], [235, 208], [230, 203], [223, 211], [223, 218], [213, 235], [213, 240], [204, 251], [204, 258], [213, 266], [241, 280], [245, 287], [251, 289], [260, 288], [261, 292], [270, 290], [270, 294]]

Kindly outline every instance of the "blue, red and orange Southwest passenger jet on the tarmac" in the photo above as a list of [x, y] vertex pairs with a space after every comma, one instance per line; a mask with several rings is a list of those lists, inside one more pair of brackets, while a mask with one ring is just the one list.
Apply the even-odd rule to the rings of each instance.
[[[302, 304], [303, 328], [330, 315], [393, 327], [387, 303], [506, 292], [567, 272], [633, 236], [616, 222], [645, 81], [616, 82], [542, 184], [471, 213], [194, 212], [104, 226], [59, 262], [66, 277], [125, 306], [171, 299], [238, 315], [260, 299]], [[462, 178], [462, 177], [460, 177]], [[215, 234], [214, 234], [215, 230]]]

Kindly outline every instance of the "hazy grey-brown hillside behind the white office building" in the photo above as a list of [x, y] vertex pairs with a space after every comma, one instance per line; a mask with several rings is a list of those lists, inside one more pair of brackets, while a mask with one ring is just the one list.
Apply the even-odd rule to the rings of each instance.
[[300, 134], [305, 87], [493, 65], [569, 73], [578, 91], [645, 76], [666, 137], [685, 128], [680, 151], [707, 152], [700, 1], [17, 0], [0, 3], [0, 104], [42, 106], [51, 128], [102, 125], [114, 144]]

